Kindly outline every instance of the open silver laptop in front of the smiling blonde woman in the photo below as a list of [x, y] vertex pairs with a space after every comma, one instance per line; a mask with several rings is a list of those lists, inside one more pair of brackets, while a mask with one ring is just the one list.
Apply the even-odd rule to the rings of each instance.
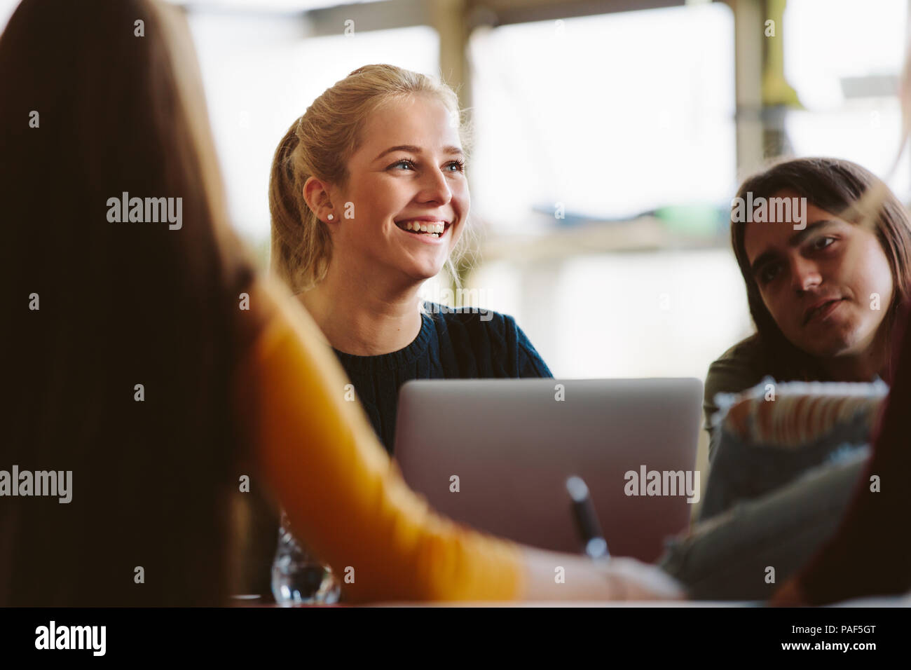
[[415, 380], [399, 392], [394, 458], [455, 521], [573, 553], [578, 475], [610, 554], [652, 562], [699, 500], [701, 401], [693, 378]]

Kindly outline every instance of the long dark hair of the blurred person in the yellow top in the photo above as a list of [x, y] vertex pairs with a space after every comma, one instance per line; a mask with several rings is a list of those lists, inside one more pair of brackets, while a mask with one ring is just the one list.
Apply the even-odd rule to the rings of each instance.
[[[0, 505], [0, 604], [230, 593], [252, 270], [223, 224], [196, 67], [179, 10], [148, 0], [24, 0], [0, 37], [0, 469], [73, 473], [68, 504]], [[182, 227], [108, 222], [124, 191], [182, 198]]]

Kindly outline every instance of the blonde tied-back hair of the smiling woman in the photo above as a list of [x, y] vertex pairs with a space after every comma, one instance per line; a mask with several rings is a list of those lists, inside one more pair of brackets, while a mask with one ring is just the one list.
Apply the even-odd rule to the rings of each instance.
[[418, 94], [445, 105], [458, 123], [467, 153], [469, 133], [455, 91], [433, 77], [392, 65], [354, 70], [323, 91], [281, 138], [269, 179], [271, 270], [293, 293], [320, 283], [333, 253], [328, 226], [303, 199], [304, 183], [315, 177], [345, 188], [347, 162], [362, 144], [363, 127], [370, 114], [390, 102]]

